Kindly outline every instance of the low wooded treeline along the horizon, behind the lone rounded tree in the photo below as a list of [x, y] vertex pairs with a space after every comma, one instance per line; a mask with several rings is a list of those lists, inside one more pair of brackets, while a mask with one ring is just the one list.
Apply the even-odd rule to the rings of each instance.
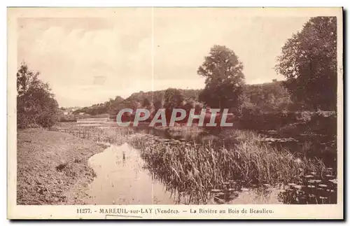
[[[160, 90], [154, 92], [137, 92], [127, 99], [116, 97], [101, 104], [80, 108], [74, 112], [86, 113], [89, 115], [99, 115], [108, 113], [114, 118], [123, 108], [147, 108], [151, 112], [159, 108], [169, 108], [176, 106], [177, 108], [203, 108], [205, 107], [199, 101], [200, 92], [202, 90], [181, 90], [172, 89]], [[215, 95], [215, 94], [213, 94]], [[244, 85], [244, 91], [241, 96], [242, 105], [239, 111], [254, 113], [271, 113], [281, 110], [293, 111], [296, 106], [290, 101], [290, 95], [283, 85], [283, 81], [274, 81], [260, 85]], [[237, 107], [235, 107], [237, 108]], [[230, 109], [235, 111], [236, 109]]]

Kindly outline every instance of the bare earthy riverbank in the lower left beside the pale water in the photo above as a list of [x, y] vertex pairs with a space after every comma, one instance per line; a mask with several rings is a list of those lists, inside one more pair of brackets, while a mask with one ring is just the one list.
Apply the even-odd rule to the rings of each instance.
[[18, 131], [17, 145], [17, 204], [83, 204], [95, 176], [87, 160], [102, 146], [44, 129]]

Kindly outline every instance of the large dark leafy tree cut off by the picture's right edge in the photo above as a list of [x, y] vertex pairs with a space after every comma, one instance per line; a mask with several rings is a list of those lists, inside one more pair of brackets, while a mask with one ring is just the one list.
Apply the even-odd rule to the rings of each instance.
[[282, 48], [277, 73], [301, 108], [334, 110], [337, 104], [337, 17], [312, 17]]

